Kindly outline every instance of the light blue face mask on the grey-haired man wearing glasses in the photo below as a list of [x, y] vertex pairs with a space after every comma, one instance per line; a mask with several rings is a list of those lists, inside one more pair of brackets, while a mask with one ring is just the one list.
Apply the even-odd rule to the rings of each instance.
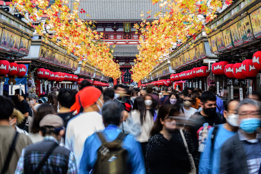
[[253, 133], [258, 127], [260, 127], [260, 118], [246, 118], [240, 120], [240, 129], [243, 129], [246, 133]]

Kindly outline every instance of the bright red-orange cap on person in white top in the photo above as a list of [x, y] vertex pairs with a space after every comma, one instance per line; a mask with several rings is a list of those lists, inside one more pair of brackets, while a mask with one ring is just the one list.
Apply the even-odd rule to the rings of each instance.
[[85, 109], [93, 105], [98, 100], [101, 94], [102, 92], [98, 88], [92, 86], [87, 86], [82, 89], [82, 93], [80, 96], [82, 107]]

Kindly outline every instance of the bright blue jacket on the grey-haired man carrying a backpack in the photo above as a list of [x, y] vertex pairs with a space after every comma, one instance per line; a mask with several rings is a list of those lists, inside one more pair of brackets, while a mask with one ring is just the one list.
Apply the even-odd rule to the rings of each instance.
[[[121, 130], [116, 125], [109, 125], [106, 127], [102, 134], [107, 142], [111, 142], [117, 138]], [[79, 173], [89, 173], [96, 163], [97, 150], [102, 145], [98, 135], [96, 133], [89, 136], [84, 144], [84, 152], [82, 154]], [[122, 142], [122, 148], [128, 151], [127, 163], [131, 173], [145, 173], [145, 165], [143, 159], [143, 153], [139, 142], [131, 135], [127, 135]]]

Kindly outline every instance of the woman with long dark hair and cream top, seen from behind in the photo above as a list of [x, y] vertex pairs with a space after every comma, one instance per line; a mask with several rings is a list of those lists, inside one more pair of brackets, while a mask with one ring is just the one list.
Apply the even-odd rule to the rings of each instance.
[[[152, 97], [151, 100], [153, 100]], [[150, 103], [152, 105], [152, 101]], [[135, 98], [133, 108], [131, 111], [131, 117], [133, 119], [134, 124], [140, 126], [141, 133], [137, 136], [137, 141], [141, 142], [143, 154], [145, 155], [146, 146], [150, 135], [150, 128], [153, 126], [154, 121], [150, 111], [146, 109], [142, 97]]]

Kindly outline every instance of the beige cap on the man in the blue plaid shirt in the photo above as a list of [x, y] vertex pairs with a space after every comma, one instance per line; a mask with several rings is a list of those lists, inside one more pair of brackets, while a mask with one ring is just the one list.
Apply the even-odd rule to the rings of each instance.
[[63, 127], [63, 119], [54, 114], [48, 114], [42, 118], [42, 120], [39, 123], [40, 127], [45, 127], [45, 126], [51, 126], [54, 128], [61, 128]]

